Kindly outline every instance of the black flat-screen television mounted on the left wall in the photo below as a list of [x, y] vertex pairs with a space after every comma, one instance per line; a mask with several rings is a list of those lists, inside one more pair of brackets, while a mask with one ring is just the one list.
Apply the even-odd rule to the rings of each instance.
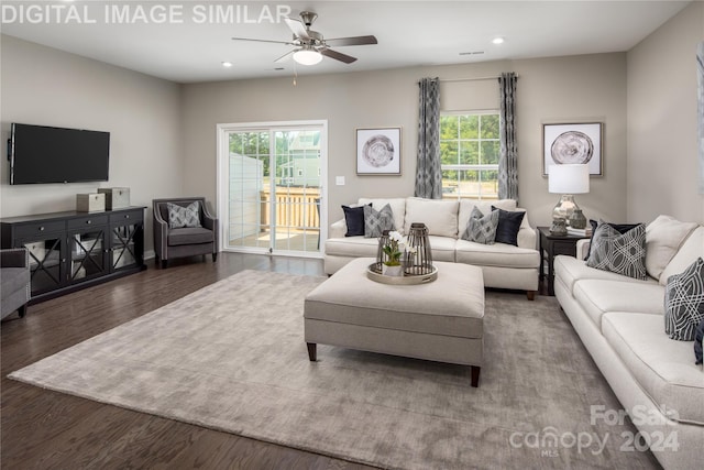
[[10, 184], [107, 182], [110, 132], [12, 123]]

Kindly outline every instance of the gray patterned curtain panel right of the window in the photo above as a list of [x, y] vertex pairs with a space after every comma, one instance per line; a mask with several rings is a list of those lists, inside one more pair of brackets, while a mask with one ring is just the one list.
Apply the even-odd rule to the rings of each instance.
[[503, 73], [501, 87], [501, 156], [498, 198], [518, 200], [518, 145], [516, 144], [516, 74]]

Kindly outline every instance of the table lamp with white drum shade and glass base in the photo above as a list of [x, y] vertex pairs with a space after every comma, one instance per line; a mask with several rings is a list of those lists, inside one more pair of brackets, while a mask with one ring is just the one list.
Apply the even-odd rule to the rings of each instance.
[[574, 201], [575, 194], [590, 192], [588, 165], [551, 165], [548, 167], [548, 192], [561, 194], [552, 209], [552, 220], [562, 219], [574, 228], [586, 227], [586, 218]]

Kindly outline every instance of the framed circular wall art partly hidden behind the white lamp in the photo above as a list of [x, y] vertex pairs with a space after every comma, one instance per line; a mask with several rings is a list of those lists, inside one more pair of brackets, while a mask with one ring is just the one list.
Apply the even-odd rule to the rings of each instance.
[[550, 165], [586, 164], [590, 175], [604, 175], [602, 122], [542, 124], [542, 175]]

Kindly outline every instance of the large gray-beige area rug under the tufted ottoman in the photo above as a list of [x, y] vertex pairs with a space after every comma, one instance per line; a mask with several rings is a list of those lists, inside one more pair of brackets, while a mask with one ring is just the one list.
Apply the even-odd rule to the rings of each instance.
[[[385, 468], [656, 468], [552, 297], [487, 292], [469, 368], [304, 342], [322, 277], [244, 271], [10, 374], [213, 429]], [[350, 286], [353, 288], [354, 286]], [[363, 295], [364, 293], [360, 293]]]

